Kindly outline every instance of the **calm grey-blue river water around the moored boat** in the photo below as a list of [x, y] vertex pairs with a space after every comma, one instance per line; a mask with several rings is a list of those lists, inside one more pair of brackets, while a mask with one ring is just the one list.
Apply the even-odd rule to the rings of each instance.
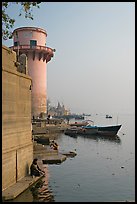
[[[39, 190], [45, 192], [46, 199], [44, 193], [41, 199], [45, 202], [135, 200], [135, 116], [113, 115], [112, 119], [106, 119], [105, 115], [94, 115], [87, 119], [99, 125], [122, 124], [119, 140], [60, 134], [57, 139], [60, 151], [76, 149], [77, 155], [60, 165], [43, 165], [47, 177]], [[15, 201], [36, 201], [30, 190], [21, 196]]]

